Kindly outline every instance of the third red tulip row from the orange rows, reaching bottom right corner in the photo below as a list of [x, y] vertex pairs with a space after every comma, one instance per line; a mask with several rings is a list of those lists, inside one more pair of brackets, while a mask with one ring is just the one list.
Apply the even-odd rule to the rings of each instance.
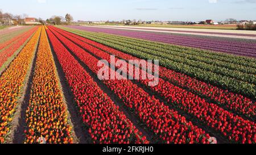
[[[76, 44], [81, 45], [81, 47], [85, 48], [89, 52], [94, 53], [94, 55], [110, 62], [110, 55], [108, 53], [92, 47], [92, 45], [88, 45], [73, 36], [69, 36], [63, 32], [60, 33], [74, 41]], [[127, 70], [124, 70], [124, 72], [127, 73]], [[142, 70], [140, 73], [142, 73]], [[149, 80], [141, 80], [140, 82], [147, 86]], [[150, 87], [150, 89], [166, 98], [167, 102], [170, 102], [185, 112], [188, 112], [196, 119], [200, 119], [201, 122], [204, 122], [209, 127], [220, 131], [224, 136], [228, 136], [229, 140], [236, 142], [240, 141], [242, 143], [256, 143], [254, 139], [256, 124], [254, 124], [254, 122], [235, 116], [232, 113], [216, 106], [216, 104], [207, 103], [204, 99], [201, 99], [186, 90], [180, 89], [169, 82], [163, 81], [163, 79], [159, 80], [158, 86]], [[236, 122], [233, 122], [233, 120], [236, 120]]]

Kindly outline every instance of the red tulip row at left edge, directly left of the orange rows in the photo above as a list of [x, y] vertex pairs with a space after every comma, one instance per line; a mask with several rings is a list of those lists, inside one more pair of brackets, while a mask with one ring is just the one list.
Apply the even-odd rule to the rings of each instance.
[[19, 38], [10, 45], [10, 47], [3, 49], [0, 52], [0, 68], [8, 60], [9, 57], [13, 56], [14, 53], [28, 40], [29, 37], [37, 30], [38, 28], [32, 28], [26, 34], [22, 34]]

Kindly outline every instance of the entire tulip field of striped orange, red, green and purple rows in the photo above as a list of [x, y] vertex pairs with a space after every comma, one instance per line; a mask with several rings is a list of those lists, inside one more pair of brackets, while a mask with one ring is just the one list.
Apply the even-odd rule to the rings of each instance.
[[[0, 144], [255, 144], [255, 45], [80, 26], [0, 30]], [[158, 84], [143, 65], [138, 78], [117, 65], [106, 76], [134, 79], [99, 79], [98, 62], [112, 56], [126, 66], [159, 60]]]

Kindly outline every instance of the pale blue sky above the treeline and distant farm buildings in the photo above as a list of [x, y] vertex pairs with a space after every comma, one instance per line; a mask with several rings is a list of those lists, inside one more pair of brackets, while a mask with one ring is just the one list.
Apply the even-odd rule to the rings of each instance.
[[75, 20], [256, 20], [256, 0], [7, 0], [0, 9], [43, 19], [69, 13]]

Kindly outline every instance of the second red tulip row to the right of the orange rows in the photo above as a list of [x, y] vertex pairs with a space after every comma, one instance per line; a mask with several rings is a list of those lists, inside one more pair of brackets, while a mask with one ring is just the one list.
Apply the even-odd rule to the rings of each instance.
[[[95, 57], [61, 36], [52, 27], [50, 29], [93, 73], [98, 73], [100, 68], [97, 67], [98, 60]], [[141, 122], [158, 135], [162, 143], [210, 143], [210, 137], [205, 131], [188, 122], [176, 111], [170, 110], [154, 96], [150, 97], [133, 82], [129, 80], [103, 82], [128, 108], [135, 111]]]

